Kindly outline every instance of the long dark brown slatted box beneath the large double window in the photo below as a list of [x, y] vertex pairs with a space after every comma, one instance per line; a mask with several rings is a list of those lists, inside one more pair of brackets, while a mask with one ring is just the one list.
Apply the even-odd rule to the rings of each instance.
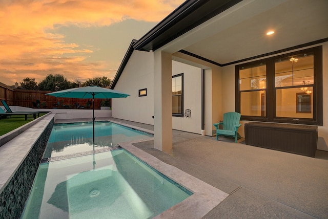
[[247, 145], [314, 157], [317, 142], [317, 126], [267, 122], [245, 123]]

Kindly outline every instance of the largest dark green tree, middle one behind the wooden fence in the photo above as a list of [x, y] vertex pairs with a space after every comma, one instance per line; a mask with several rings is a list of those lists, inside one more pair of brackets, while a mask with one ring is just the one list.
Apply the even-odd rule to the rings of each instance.
[[40, 91], [61, 91], [76, 87], [76, 83], [72, 83], [64, 78], [63, 75], [47, 75], [47, 77], [39, 83]]

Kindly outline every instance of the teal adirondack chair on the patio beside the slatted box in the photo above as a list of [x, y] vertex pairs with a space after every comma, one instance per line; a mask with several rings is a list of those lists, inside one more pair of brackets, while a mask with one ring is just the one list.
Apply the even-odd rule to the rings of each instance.
[[[219, 140], [219, 136], [235, 137], [235, 142], [238, 139], [238, 128], [241, 125], [240, 113], [230, 112], [223, 114], [223, 122], [214, 123], [216, 128], [216, 140]], [[219, 125], [222, 125], [222, 129], [219, 129]]]

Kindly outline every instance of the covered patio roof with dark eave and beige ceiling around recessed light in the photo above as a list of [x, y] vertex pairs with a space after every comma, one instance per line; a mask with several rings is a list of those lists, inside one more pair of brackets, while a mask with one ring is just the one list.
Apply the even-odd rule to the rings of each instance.
[[234, 64], [328, 41], [327, 8], [325, 0], [186, 1], [133, 47]]

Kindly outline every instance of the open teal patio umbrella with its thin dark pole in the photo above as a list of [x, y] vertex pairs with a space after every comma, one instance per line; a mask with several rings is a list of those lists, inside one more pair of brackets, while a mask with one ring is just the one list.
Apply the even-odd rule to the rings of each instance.
[[92, 98], [92, 121], [93, 121], [93, 144], [94, 144], [94, 99], [112, 99], [128, 97], [129, 94], [125, 94], [119, 91], [114, 91], [99, 86], [84, 86], [67, 89], [63, 91], [56, 91], [46, 95], [54, 97], [67, 97], [67, 98], [80, 98], [80, 99], [91, 99]]

